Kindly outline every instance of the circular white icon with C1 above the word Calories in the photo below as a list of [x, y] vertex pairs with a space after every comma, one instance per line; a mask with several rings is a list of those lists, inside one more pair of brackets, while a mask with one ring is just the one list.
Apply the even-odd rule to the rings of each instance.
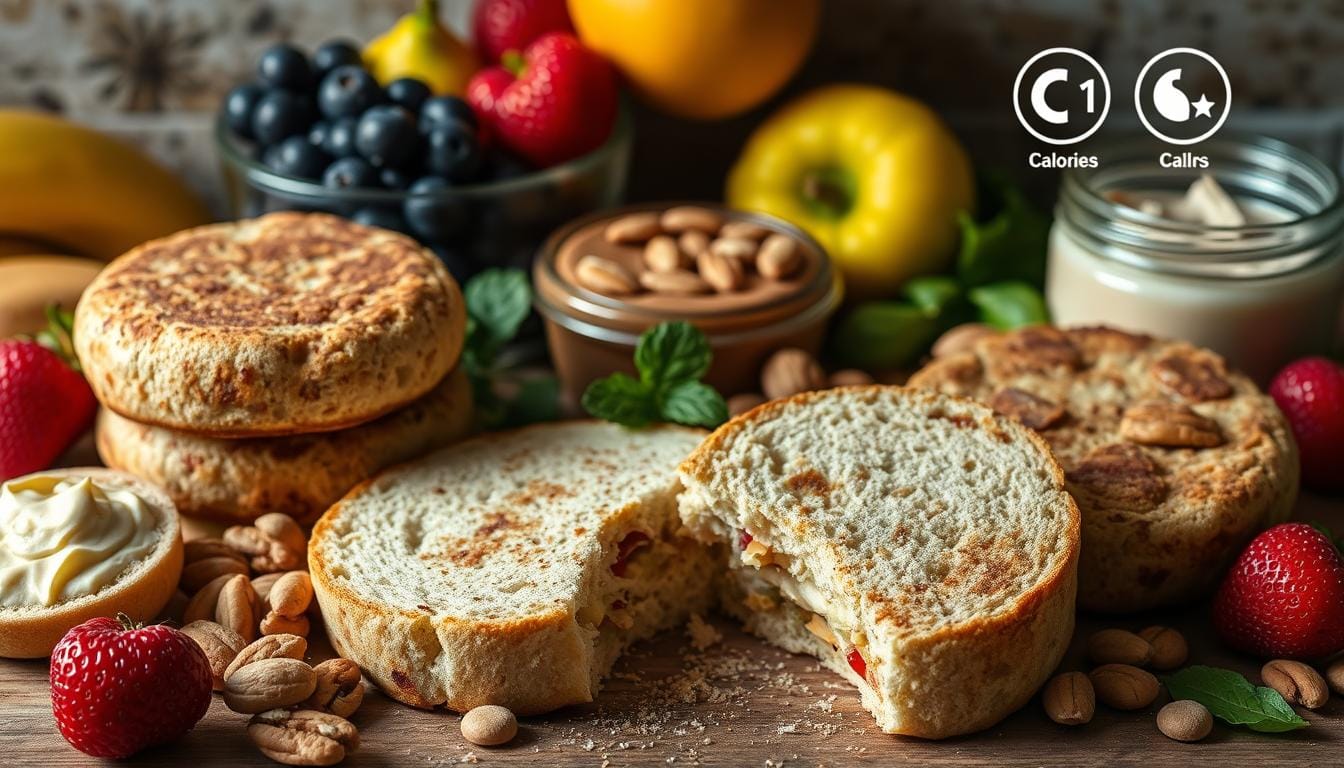
[[[1047, 56], [1050, 61], [1044, 62]], [[1042, 66], [1048, 69], [1042, 70]], [[1028, 77], [1031, 86], [1024, 100], [1021, 87]], [[1070, 85], [1079, 93], [1062, 91]], [[1052, 93], [1056, 94], [1054, 100]], [[1027, 133], [1047, 144], [1077, 144], [1095, 133], [1105, 122], [1110, 112], [1110, 81], [1106, 79], [1106, 73], [1097, 59], [1078, 48], [1046, 48], [1027, 59], [1027, 63], [1017, 70], [1017, 78], [1012, 83], [1012, 97], [1017, 122], [1021, 122]], [[1024, 101], [1031, 110], [1030, 114], [1023, 112]], [[1070, 106], [1060, 106], [1062, 104]], [[1056, 125], [1062, 128], [1052, 130], [1051, 126]]]

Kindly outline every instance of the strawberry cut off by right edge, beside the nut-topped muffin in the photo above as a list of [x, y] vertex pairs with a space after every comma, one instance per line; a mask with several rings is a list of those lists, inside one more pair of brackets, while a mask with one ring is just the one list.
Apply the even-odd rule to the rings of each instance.
[[1344, 491], [1344, 366], [1304, 358], [1278, 371], [1269, 394], [1293, 425], [1302, 483], [1318, 491]]

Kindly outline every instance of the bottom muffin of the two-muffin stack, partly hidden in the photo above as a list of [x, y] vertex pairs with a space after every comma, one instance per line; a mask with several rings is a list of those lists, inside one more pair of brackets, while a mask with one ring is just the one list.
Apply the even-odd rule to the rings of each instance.
[[163, 487], [177, 511], [230, 523], [285, 512], [302, 525], [391, 464], [465, 437], [472, 386], [461, 369], [425, 397], [337, 432], [220, 440], [98, 413], [103, 463]]

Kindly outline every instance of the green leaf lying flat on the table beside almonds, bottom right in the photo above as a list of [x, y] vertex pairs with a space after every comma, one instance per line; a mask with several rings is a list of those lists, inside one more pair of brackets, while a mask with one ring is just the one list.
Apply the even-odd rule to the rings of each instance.
[[1253, 686], [1232, 670], [1193, 666], [1163, 679], [1173, 699], [1192, 699], [1214, 717], [1261, 733], [1282, 733], [1310, 725], [1274, 689]]

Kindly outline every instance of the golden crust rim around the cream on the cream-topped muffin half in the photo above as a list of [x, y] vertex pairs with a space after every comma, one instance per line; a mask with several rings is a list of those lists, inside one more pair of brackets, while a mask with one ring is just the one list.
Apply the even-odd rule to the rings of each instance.
[[153, 621], [177, 589], [177, 578], [181, 576], [181, 530], [172, 500], [163, 491], [125, 472], [101, 467], [47, 469], [42, 475], [91, 477], [95, 483], [130, 488], [159, 516], [161, 538], [141, 565], [132, 566], [130, 574], [124, 574], [93, 596], [50, 608], [0, 608], [0, 656], [9, 659], [50, 656], [71, 627], [98, 616], [125, 613], [134, 621]]

